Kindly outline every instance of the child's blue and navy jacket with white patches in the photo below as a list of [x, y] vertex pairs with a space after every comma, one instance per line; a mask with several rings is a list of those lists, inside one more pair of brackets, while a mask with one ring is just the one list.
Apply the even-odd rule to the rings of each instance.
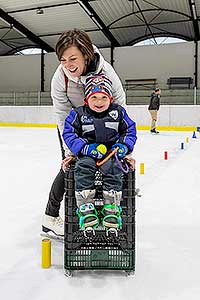
[[65, 120], [63, 139], [75, 155], [79, 155], [86, 144], [104, 144], [111, 149], [115, 143], [122, 143], [133, 151], [136, 142], [136, 124], [126, 110], [112, 103], [102, 113], [92, 111], [88, 105], [74, 108]]

